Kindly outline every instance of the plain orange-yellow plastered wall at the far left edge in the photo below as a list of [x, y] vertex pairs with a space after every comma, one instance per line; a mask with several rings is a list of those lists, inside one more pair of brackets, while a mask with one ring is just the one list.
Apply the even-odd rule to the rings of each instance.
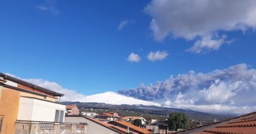
[[14, 122], [18, 116], [20, 92], [0, 86], [0, 115], [4, 115], [1, 134], [14, 133]]

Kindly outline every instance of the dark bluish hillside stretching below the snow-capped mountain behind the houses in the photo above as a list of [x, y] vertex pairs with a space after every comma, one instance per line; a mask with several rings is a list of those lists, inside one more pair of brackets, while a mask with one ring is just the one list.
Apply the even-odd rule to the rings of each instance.
[[75, 104], [80, 112], [93, 111], [101, 112], [118, 112], [121, 116], [143, 116], [149, 119], [163, 119], [171, 112], [183, 112], [188, 116], [191, 126], [196, 126], [202, 120], [203, 124], [209, 124], [215, 120], [224, 120], [230, 118], [229, 115], [210, 114], [205, 112], [198, 112], [190, 109], [175, 109], [168, 107], [146, 106], [146, 105], [110, 105], [106, 103], [81, 103], [81, 102], [62, 102], [64, 105]]

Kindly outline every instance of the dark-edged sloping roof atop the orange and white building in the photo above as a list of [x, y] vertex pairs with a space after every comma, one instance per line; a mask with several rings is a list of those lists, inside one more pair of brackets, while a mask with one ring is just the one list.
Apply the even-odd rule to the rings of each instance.
[[37, 86], [30, 82], [26, 82], [24, 80], [14, 78], [13, 76], [5, 75], [4, 73], [0, 73], [0, 76], [3, 77], [5, 80], [10, 80], [12, 82], [16, 82], [17, 84], [21, 84], [21, 85], [27, 86], [28, 88], [33, 88], [35, 90], [39, 90], [40, 92], [43, 92], [43, 93], [49, 93], [53, 96], [60, 96], [60, 97], [64, 96], [64, 94], [62, 94], [62, 93], [54, 92], [53, 90], [49, 90], [47, 88], [42, 88], [41, 86]]

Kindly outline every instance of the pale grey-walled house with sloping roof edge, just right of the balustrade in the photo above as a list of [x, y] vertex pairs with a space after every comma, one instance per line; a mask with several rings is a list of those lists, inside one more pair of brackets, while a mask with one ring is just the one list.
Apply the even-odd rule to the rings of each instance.
[[66, 115], [65, 120], [72, 123], [87, 122], [89, 125], [89, 134], [138, 134], [135, 131], [129, 130], [127, 127], [118, 127], [89, 116], [82, 115]]

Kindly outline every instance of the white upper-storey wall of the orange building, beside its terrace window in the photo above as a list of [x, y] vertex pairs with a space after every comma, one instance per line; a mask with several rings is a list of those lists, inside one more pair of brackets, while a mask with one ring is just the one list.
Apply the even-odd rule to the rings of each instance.
[[[66, 106], [39, 99], [20, 97], [17, 120], [54, 122], [56, 110], [65, 111]], [[62, 118], [64, 119], [64, 115]]]

